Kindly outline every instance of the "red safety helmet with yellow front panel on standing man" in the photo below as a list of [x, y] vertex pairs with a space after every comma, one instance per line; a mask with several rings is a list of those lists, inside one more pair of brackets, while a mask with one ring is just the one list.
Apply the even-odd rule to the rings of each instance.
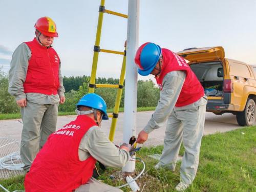
[[50, 17], [41, 17], [34, 26], [39, 32], [49, 37], [58, 37], [56, 24]]

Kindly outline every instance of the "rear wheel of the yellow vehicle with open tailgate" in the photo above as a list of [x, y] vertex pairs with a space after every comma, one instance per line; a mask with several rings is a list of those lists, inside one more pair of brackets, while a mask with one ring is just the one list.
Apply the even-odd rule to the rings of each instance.
[[245, 109], [237, 112], [237, 121], [240, 126], [251, 126], [255, 122], [256, 105], [253, 99], [248, 99]]

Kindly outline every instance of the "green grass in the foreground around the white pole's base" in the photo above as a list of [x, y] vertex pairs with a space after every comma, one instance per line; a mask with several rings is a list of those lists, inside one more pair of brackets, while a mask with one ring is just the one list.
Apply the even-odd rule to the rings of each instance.
[[[244, 134], [243, 134], [244, 133]], [[179, 183], [180, 163], [177, 163], [174, 173], [161, 168], [156, 170], [154, 160], [148, 155], [161, 154], [163, 146], [142, 147], [137, 153], [146, 163], [145, 175], [137, 183], [143, 191], [174, 191]], [[181, 147], [180, 155], [184, 153]], [[136, 173], [143, 168], [142, 163], [136, 163]], [[120, 169], [108, 168], [99, 179], [118, 186], [125, 182], [118, 179]], [[116, 177], [111, 179], [110, 175]], [[22, 190], [24, 177], [0, 180], [0, 184], [9, 190]], [[14, 183], [14, 184], [13, 184]], [[217, 133], [204, 136], [202, 139], [200, 162], [196, 179], [186, 191], [256, 191], [256, 126], [246, 127], [227, 133]], [[131, 191], [130, 188], [122, 188]]]

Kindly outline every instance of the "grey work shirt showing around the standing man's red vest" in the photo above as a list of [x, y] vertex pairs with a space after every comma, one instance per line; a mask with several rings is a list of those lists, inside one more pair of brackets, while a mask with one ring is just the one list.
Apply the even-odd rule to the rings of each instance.
[[38, 104], [56, 104], [59, 97], [64, 96], [62, 76], [59, 63], [59, 88], [56, 95], [45, 95], [40, 93], [24, 93], [23, 84], [26, 80], [31, 50], [28, 45], [20, 44], [14, 51], [11, 60], [11, 69], [9, 70], [9, 89], [8, 92], [16, 97], [16, 100], [27, 98], [28, 101]]

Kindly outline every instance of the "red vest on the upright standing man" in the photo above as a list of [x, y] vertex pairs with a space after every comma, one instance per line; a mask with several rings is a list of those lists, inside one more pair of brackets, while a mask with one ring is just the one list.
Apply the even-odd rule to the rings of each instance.
[[59, 88], [59, 57], [53, 48], [41, 46], [34, 38], [25, 42], [31, 50], [26, 80], [23, 84], [25, 93], [56, 95]]

